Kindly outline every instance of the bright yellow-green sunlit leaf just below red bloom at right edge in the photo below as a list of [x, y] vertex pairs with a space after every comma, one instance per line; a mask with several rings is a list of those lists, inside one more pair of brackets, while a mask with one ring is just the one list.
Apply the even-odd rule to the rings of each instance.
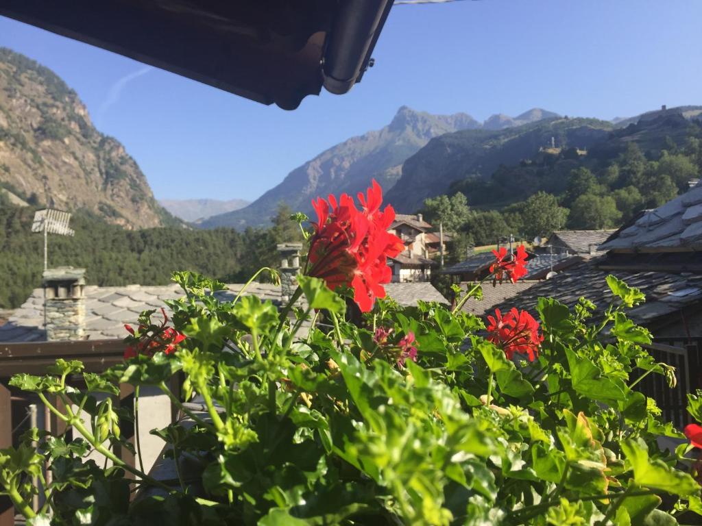
[[624, 440], [621, 449], [634, 470], [637, 485], [686, 497], [700, 491], [694, 478], [661, 460], [649, 459], [647, 445], [642, 441]]

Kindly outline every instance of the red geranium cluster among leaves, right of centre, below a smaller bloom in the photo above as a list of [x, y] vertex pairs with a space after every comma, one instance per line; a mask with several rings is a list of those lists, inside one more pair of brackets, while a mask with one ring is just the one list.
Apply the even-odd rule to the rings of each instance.
[[488, 341], [503, 349], [508, 360], [515, 353], [526, 354], [530, 362], [536, 360], [543, 335], [539, 334], [538, 321], [531, 314], [513, 308], [502, 316], [500, 309], [495, 309], [495, 316], [487, 319]]

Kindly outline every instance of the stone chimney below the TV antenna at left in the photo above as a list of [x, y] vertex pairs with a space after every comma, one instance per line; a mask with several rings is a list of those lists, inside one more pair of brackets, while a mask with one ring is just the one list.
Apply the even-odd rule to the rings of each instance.
[[44, 271], [46, 340], [84, 339], [86, 269], [58, 267]]

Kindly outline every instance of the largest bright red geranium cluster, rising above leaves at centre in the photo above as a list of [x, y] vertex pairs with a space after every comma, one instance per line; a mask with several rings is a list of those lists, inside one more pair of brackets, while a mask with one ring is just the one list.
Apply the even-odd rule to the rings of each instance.
[[361, 210], [353, 198], [342, 194], [312, 201], [317, 213], [310, 241], [308, 276], [326, 281], [331, 290], [341, 286], [354, 290], [354, 301], [362, 312], [373, 309], [376, 297], [385, 297], [384, 283], [392, 271], [388, 257], [404, 250], [404, 244], [388, 232], [395, 210], [388, 205], [380, 211], [383, 190], [373, 180], [367, 196], [359, 192]]

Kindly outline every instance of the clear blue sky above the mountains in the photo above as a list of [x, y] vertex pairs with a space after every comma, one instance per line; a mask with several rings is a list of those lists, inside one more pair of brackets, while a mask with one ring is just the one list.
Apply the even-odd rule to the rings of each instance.
[[382, 128], [402, 104], [483, 120], [531, 107], [611, 119], [702, 104], [699, 0], [482, 0], [395, 6], [351, 93], [294, 112], [0, 17], [0, 46], [50, 67], [138, 161], [157, 198], [253, 199]]

